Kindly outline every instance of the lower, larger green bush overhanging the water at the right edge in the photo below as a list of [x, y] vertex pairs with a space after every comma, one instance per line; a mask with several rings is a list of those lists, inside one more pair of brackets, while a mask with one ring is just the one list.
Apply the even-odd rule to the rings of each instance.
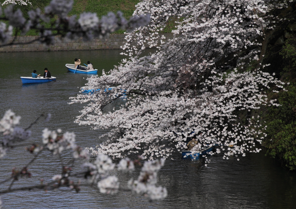
[[281, 106], [268, 110], [266, 141], [267, 153], [281, 158], [290, 170], [296, 169], [296, 87], [290, 86], [287, 92], [278, 93]]

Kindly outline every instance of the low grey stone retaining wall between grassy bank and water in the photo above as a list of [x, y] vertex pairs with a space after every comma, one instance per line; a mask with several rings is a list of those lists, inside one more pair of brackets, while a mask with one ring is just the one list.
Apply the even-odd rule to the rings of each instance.
[[[172, 34], [163, 34], [171, 38]], [[120, 49], [125, 43], [124, 34], [111, 34], [109, 38], [96, 38], [91, 42], [83, 42], [82, 39], [71, 40], [68, 43], [61, 43], [56, 37], [54, 45], [33, 42], [30, 44], [17, 44], [35, 40], [35, 36], [17, 37], [15, 44], [11, 46], [0, 47], [0, 52], [19, 52], [19, 51], [70, 51], [70, 50], [96, 50], [96, 49]]]

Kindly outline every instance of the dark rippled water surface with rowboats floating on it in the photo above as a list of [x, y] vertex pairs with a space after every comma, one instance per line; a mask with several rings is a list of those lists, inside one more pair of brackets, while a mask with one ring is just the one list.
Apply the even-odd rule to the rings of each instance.
[[[48, 123], [38, 122], [31, 129], [32, 137], [23, 145], [40, 143], [42, 130], [61, 128], [75, 132], [76, 142], [82, 147], [94, 147], [97, 139], [105, 130], [91, 130], [87, 126], [73, 123], [83, 104], [68, 105], [69, 97], [77, 95], [90, 75], [73, 74], [65, 64], [80, 58], [82, 63], [91, 61], [95, 68], [109, 71], [124, 58], [120, 50], [98, 51], [57, 51], [57, 52], [19, 52], [0, 53], [0, 117], [12, 109], [22, 116], [21, 127], [28, 127], [41, 113], [51, 113]], [[47, 67], [57, 82], [22, 85], [20, 76], [30, 76], [34, 69], [43, 74]], [[79, 87], [79, 88], [77, 88]], [[120, 105], [120, 101], [114, 105]], [[70, 152], [63, 152], [60, 158], [67, 161]], [[141, 195], [120, 192], [116, 195], [101, 194], [95, 188], [81, 187], [81, 192], [22, 191], [1, 195], [3, 208], [296, 208], [296, 173], [283, 169], [280, 163], [261, 153], [247, 154], [246, 157], [223, 160], [223, 154], [209, 157], [211, 162], [205, 166], [203, 160], [182, 160], [179, 153], [158, 174], [158, 184], [168, 189], [168, 197], [160, 202], [147, 202]], [[17, 146], [0, 160], [0, 181], [10, 176], [12, 168], [21, 168], [32, 155], [22, 146]], [[80, 163], [73, 168], [79, 170]], [[51, 179], [61, 170], [58, 157], [44, 152], [28, 169], [30, 179], [16, 181], [12, 188], [38, 184], [40, 179]], [[122, 185], [134, 174], [122, 174]], [[8, 184], [9, 185], [9, 184]], [[7, 189], [7, 184], [0, 189]]]

